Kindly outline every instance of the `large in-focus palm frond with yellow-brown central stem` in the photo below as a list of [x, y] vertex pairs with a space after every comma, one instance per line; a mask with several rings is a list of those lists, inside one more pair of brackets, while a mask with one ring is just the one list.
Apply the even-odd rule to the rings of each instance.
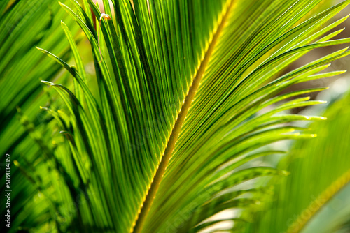
[[[11, 230], [199, 232], [227, 220], [211, 219], [216, 213], [258, 204], [267, 188], [238, 185], [287, 172], [249, 161], [283, 153], [265, 147], [272, 142], [315, 136], [290, 122], [324, 119], [283, 112], [323, 103], [295, 97], [325, 88], [279, 93], [343, 73], [320, 72], [350, 54], [346, 47], [283, 73], [310, 50], [350, 42], [332, 40], [342, 31], [332, 29], [346, 17], [330, 23], [350, 1], [313, 15], [321, 2], [104, 0], [102, 13], [91, 0], [72, 0], [60, 5], [76, 22], [62, 22], [74, 61], [69, 54], [64, 57], [64, 44], [59, 47], [52, 39], [61, 41], [59, 33], [45, 33], [48, 44], [38, 46], [55, 65], [34, 55], [32, 44], [27, 59], [11, 55], [27, 54], [21, 50], [24, 41], [37, 44], [26, 40], [26, 33], [36, 38], [29, 26], [45, 25], [42, 19], [48, 16], [27, 20], [29, 26], [18, 29], [22, 36], [1, 35], [6, 43], [0, 52], [10, 51], [1, 67], [21, 72], [1, 73], [1, 95], [8, 103], [1, 111], [10, 110], [4, 119], [14, 121], [19, 105], [18, 117], [28, 133], [6, 142], [3, 151], [13, 155], [13, 179], [22, 184], [15, 189], [13, 181], [13, 195], [25, 199], [15, 205], [13, 225], [21, 228]], [[27, 1], [0, 4], [1, 27], [17, 19], [16, 10], [25, 13], [28, 7]], [[52, 12], [58, 12], [56, 7]], [[82, 40], [77, 25], [90, 43], [88, 52], [77, 43]], [[48, 68], [41, 69], [31, 56]], [[42, 75], [29, 78], [26, 69], [16, 69], [18, 64]], [[57, 64], [73, 80], [54, 80]], [[22, 77], [33, 85], [25, 93], [18, 84], [24, 84]], [[45, 96], [38, 91], [29, 91], [38, 89], [36, 77], [50, 87], [45, 88], [47, 103], [39, 103], [38, 96]], [[11, 89], [23, 96], [22, 102], [7, 94]], [[44, 123], [33, 120], [37, 104], [50, 116]], [[1, 123], [1, 142], [17, 127]], [[239, 230], [232, 225], [221, 230], [234, 229]]]

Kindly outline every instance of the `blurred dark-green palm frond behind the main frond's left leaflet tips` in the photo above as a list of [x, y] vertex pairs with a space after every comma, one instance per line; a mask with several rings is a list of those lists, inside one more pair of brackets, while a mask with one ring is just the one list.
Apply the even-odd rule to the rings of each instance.
[[[69, 59], [71, 51], [68, 43], [61, 40], [64, 32], [58, 28], [59, 18], [65, 18], [73, 32], [77, 33], [78, 27], [72, 24], [73, 20], [66, 17], [57, 3], [52, 4], [46, 0], [3, 0], [0, 3], [0, 157], [5, 161], [6, 153], [11, 153], [12, 161], [21, 160], [28, 167], [29, 173], [32, 173], [31, 167], [43, 160], [43, 146], [49, 148], [45, 150], [47, 153], [52, 153], [51, 150], [55, 147], [51, 146], [50, 129], [55, 128], [55, 122], [39, 106], [48, 105], [57, 99], [53, 96], [48, 98], [52, 94], [50, 91], [43, 93], [40, 80], [55, 79], [66, 84], [67, 76], [59, 73], [62, 67], [57, 63], [44, 59], [45, 56], [38, 53], [35, 45], [48, 47], [62, 58]], [[59, 107], [59, 101], [53, 103], [52, 107]], [[19, 118], [27, 125], [29, 133], [20, 124]], [[36, 137], [38, 133], [43, 134], [43, 137]], [[36, 142], [41, 144], [34, 144], [29, 135], [36, 137]], [[2, 174], [5, 174], [5, 163], [1, 165]], [[45, 170], [43, 167], [43, 172]], [[31, 202], [36, 198], [38, 189], [14, 165], [11, 181], [16, 186], [11, 196], [12, 215], [16, 216], [13, 229], [20, 225], [35, 227], [47, 223], [52, 213], [48, 213], [45, 202], [40, 207]], [[1, 176], [1, 190], [6, 189], [5, 176]], [[29, 208], [24, 211], [23, 206], [28, 202], [31, 202]], [[27, 210], [38, 215], [29, 215]], [[1, 205], [1, 215], [4, 216], [5, 213], [5, 205]], [[1, 229], [6, 232], [5, 225], [1, 225]]]

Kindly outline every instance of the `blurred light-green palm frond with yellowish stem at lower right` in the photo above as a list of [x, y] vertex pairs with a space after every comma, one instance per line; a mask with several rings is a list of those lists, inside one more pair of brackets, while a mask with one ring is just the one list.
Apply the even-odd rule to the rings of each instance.
[[[311, 124], [318, 135], [315, 140], [297, 141], [281, 161], [279, 168], [290, 176], [277, 182], [273, 200], [251, 231], [313, 232], [306, 231], [310, 223], [349, 185], [349, 97], [328, 107], [327, 121]], [[330, 219], [318, 225], [317, 232], [332, 229]]]

